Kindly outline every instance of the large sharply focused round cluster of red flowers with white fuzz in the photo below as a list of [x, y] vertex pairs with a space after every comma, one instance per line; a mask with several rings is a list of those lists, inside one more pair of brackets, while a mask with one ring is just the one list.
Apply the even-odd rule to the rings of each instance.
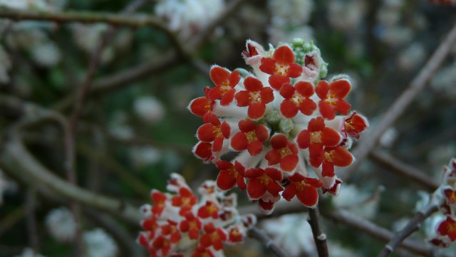
[[[247, 189], [266, 213], [281, 197], [315, 206], [318, 188], [338, 193], [335, 167], [352, 164], [348, 149], [368, 127], [345, 100], [350, 80], [323, 80], [327, 64], [301, 38], [269, 51], [251, 40], [246, 46], [242, 56], [252, 73], [213, 65], [215, 86], [190, 103], [204, 122], [193, 152], [217, 165], [220, 189]], [[230, 152], [239, 153], [227, 160]]]

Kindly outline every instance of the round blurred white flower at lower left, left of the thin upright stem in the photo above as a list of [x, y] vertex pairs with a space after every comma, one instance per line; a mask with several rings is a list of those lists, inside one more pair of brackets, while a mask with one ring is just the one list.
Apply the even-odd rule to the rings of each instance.
[[76, 236], [76, 221], [66, 207], [50, 211], [46, 216], [46, 227], [57, 241], [73, 241]]

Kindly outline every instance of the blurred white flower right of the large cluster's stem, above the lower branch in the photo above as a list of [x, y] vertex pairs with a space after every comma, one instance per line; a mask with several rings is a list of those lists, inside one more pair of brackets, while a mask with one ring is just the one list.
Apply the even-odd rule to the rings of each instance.
[[379, 188], [373, 194], [361, 192], [355, 185], [346, 184], [341, 187], [338, 196], [333, 198], [333, 205], [336, 208], [348, 209], [358, 216], [372, 219], [377, 213]]

